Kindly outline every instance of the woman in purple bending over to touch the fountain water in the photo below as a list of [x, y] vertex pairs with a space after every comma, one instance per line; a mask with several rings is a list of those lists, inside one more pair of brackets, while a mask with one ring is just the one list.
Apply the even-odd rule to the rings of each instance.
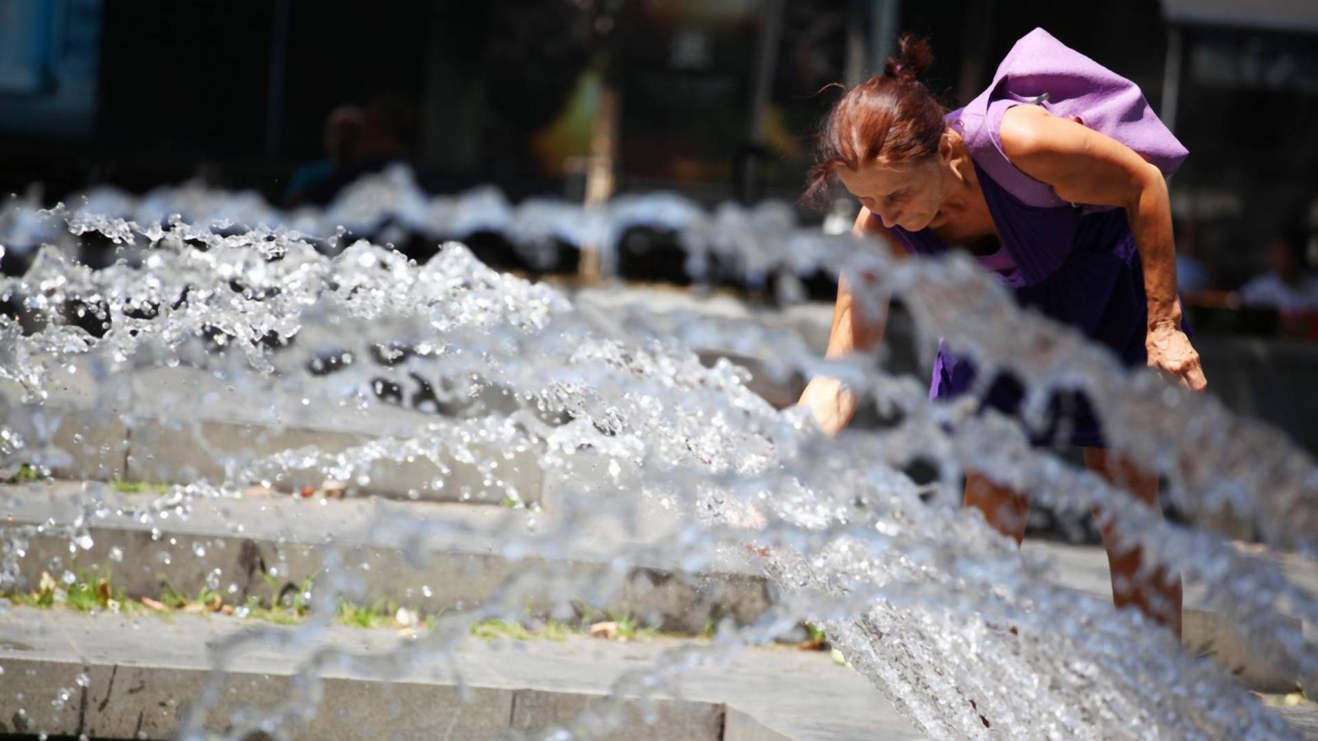
[[[931, 61], [927, 42], [904, 37], [900, 58], [847, 91], [822, 129], [808, 195], [837, 177], [863, 206], [857, 233], [878, 235], [899, 254], [961, 245], [1023, 306], [1077, 327], [1128, 365], [1147, 363], [1202, 390], [1177, 299], [1164, 179], [1188, 153], [1139, 88], [1036, 29], [1016, 42], [988, 90], [945, 113], [919, 82]], [[862, 316], [841, 282], [828, 356], [882, 336], [882, 322]], [[969, 363], [940, 349], [929, 393], [957, 396], [973, 377]], [[1020, 385], [999, 376], [983, 403], [1014, 413], [1021, 398]], [[1104, 452], [1087, 400], [1053, 402], [1052, 429], [1036, 444], [1082, 447], [1087, 468], [1157, 508], [1157, 476]], [[858, 400], [818, 377], [801, 403], [834, 434]], [[1024, 493], [970, 472], [965, 501], [1017, 543], [1024, 538]], [[1108, 527], [1103, 541], [1116, 607], [1135, 605], [1180, 636], [1180, 579], [1139, 578], [1139, 550], [1118, 550]]]

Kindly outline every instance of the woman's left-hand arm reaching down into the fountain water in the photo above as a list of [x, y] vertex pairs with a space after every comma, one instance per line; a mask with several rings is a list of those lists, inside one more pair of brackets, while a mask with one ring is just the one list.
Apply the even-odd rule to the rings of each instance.
[[[876, 219], [870, 216], [869, 208], [861, 208], [861, 215], [855, 219], [851, 233], [857, 236], [884, 233]], [[890, 248], [900, 254], [904, 251], [892, 240], [884, 240]], [[886, 328], [887, 310], [882, 316], [867, 319], [859, 311], [851, 286], [845, 277], [837, 282], [837, 303], [833, 305], [833, 327], [829, 330], [828, 352], [825, 357], [833, 360], [851, 353], [853, 351], [870, 349], [883, 339]], [[855, 414], [855, 407], [861, 400], [855, 397], [837, 378], [816, 376], [807, 384], [801, 400], [797, 402], [815, 413], [815, 419], [829, 435], [836, 435], [846, 427]]]

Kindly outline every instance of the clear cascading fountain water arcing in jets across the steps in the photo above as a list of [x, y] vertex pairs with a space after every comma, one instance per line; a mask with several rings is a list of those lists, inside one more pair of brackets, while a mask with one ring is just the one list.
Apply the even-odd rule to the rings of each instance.
[[[1052, 389], [1085, 389], [1103, 410], [1112, 444], [1165, 471], [1169, 494], [1184, 512], [1230, 504], [1257, 517], [1269, 545], [1313, 558], [1318, 467], [1275, 432], [1149, 373], [1127, 373], [1070, 331], [1020, 312], [965, 260], [891, 262], [851, 237], [774, 232], [776, 212], [755, 220], [725, 211], [692, 223], [699, 212], [671, 198], [637, 198], [587, 214], [550, 203], [514, 212], [488, 191], [459, 200], [399, 195], [384, 187], [390, 177], [399, 175], [360, 185], [327, 214], [253, 218], [250, 204], [244, 214], [232, 199], [203, 193], [191, 203], [204, 212], [195, 225], [179, 219], [162, 225], [156, 216], [142, 219], [144, 227], [92, 212], [104, 207], [130, 216], [134, 207], [146, 208], [111, 203], [101, 193], [74, 212], [37, 216], [16, 208], [0, 220], [9, 239], [21, 227], [58, 241], [63, 237], [53, 229], [67, 223], [74, 233], [95, 231], [136, 245], [130, 260], [100, 270], [75, 264], [66, 249], [43, 247], [25, 276], [0, 282], [0, 295], [21, 301], [26, 315], [24, 323], [0, 323], [0, 378], [22, 390], [0, 397], [5, 464], [59, 467], [79, 452], [53, 443], [66, 407], [43, 405], [55, 380], [69, 373], [88, 377], [84, 411], [121, 418], [129, 429], [134, 410], [236, 400], [246, 409], [229, 411], [272, 429], [314, 414], [373, 419], [389, 409], [381, 382], [410, 378], [424, 378], [435, 409], [444, 411], [424, 429], [341, 451], [270, 450], [256, 458], [217, 451], [227, 459], [223, 480], [174, 487], [132, 510], [90, 487], [82, 516], [63, 531], [70, 552], [92, 546], [90, 529], [99, 519], [186, 517], [202, 501], [240, 497], [252, 484], [278, 485], [308, 471], [369, 488], [382, 465], [416, 459], [440, 471], [453, 460], [473, 465], [482, 487], [467, 496], [496, 492], [526, 512], [455, 525], [376, 508], [362, 531], [402, 543], [411, 563], [424, 563], [459, 529], [513, 556], [532, 548], [567, 552], [581, 534], [600, 529], [616, 534], [601, 546], [614, 564], [602, 576], [583, 580], [552, 560], [529, 563], [485, 603], [447, 613], [419, 638], [369, 655], [344, 655], [319, 642], [340, 600], [360, 595], [368, 578], [347, 548], [330, 543], [306, 622], [253, 626], [217, 647], [221, 668], [274, 645], [301, 657], [302, 667], [302, 682], [287, 696], [227, 719], [227, 737], [297, 728], [316, 712], [318, 678], [336, 662], [387, 675], [453, 661], [455, 642], [472, 621], [515, 620], [531, 596], [551, 592], [544, 612], [564, 614], [573, 601], [606, 604], [623, 588], [629, 566], [664, 560], [699, 572], [751, 550], [763, 554], [757, 559], [782, 588], [776, 604], [747, 625], [725, 624], [705, 647], [673, 651], [625, 676], [618, 696], [679, 694], [685, 668], [808, 620], [824, 625], [879, 691], [938, 738], [1292, 737], [1249, 692], [1181, 653], [1165, 630], [1137, 613], [1115, 612], [1106, 600], [1049, 585], [1045, 564], [1024, 559], [978, 514], [958, 506], [961, 472], [1020, 487], [1062, 513], [1102, 504], [1151, 567], [1165, 564], [1202, 584], [1209, 607], [1243, 626], [1257, 650], [1294, 661], [1306, 687], [1318, 679], [1318, 651], [1273, 608], [1284, 604], [1314, 625], [1318, 595], [1288, 581], [1276, 564], [1248, 558], [1211, 533], [1165, 523], [1102, 479], [1029, 448], [1015, 423], [977, 415], [969, 403], [932, 403], [919, 381], [875, 372], [871, 357], [824, 363], [768, 330], [746, 328], [738, 338], [745, 348], [776, 351], [766, 353], [770, 376], [845, 378], [871, 394], [888, 421], [878, 430], [825, 438], [803, 410], [775, 410], [747, 390], [745, 370], [726, 361], [702, 365], [685, 343], [708, 334], [706, 326], [679, 323], [679, 336], [638, 332], [641, 316], [622, 322], [614, 312], [573, 306], [558, 290], [485, 268], [460, 244], [444, 245], [420, 265], [365, 241], [341, 251], [335, 244], [336, 254], [327, 257], [318, 252], [323, 241], [294, 229], [301, 223], [324, 236], [333, 233], [331, 223], [380, 227], [380, 210], [369, 207], [380, 203], [394, 204], [393, 220], [410, 219], [413, 227], [438, 229], [440, 219], [448, 231], [480, 223], [531, 243], [571, 231], [583, 243], [608, 245], [626, 224], [658, 222], [683, 229], [696, 253], [750, 256], [742, 264], [758, 276], [784, 262], [801, 273], [841, 266], [851, 277], [878, 276], [853, 281], [867, 286], [862, 298], [876, 306], [900, 297], [923, 341], [944, 336], [978, 364], [1015, 372], [1027, 382], [1032, 409], [1041, 409]], [[166, 193], [154, 198], [177, 203]], [[215, 216], [270, 225], [227, 225], [217, 233], [206, 225]], [[289, 227], [275, 225], [279, 220]], [[757, 253], [757, 236], [776, 248]], [[83, 328], [88, 314], [101, 324], [100, 336]], [[366, 361], [381, 348], [399, 348], [395, 361]], [[153, 369], [191, 373], [192, 385], [161, 386], [157, 398], [138, 398], [132, 378]], [[507, 473], [522, 456], [556, 483], [543, 512]], [[937, 461], [937, 481], [917, 487], [902, 473], [916, 458]], [[432, 483], [443, 485], [443, 477]], [[655, 519], [655, 505], [671, 518]], [[38, 530], [51, 533], [4, 530], [0, 587], [20, 579], [26, 539]], [[210, 732], [207, 708], [221, 684], [216, 674], [190, 699], [183, 737]], [[618, 723], [619, 712], [604, 703], [568, 728], [572, 737], [589, 737]]]

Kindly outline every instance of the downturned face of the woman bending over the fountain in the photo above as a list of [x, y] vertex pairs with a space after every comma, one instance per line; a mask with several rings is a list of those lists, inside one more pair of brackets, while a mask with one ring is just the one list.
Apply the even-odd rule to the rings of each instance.
[[919, 161], [884, 162], [878, 158], [857, 170], [840, 167], [837, 174], [859, 202], [886, 228], [919, 232], [937, 225], [944, 196], [944, 157], [938, 152]]

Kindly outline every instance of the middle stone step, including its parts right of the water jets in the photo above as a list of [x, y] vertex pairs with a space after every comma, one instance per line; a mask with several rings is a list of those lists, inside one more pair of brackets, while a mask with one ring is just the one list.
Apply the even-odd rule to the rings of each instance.
[[[90, 487], [92, 490], [84, 489]], [[121, 494], [87, 483], [40, 483], [0, 487], [0, 501], [9, 502], [9, 525], [71, 523], [90, 496], [107, 498], [105, 506], [145, 505], [153, 494]], [[365, 530], [381, 509], [390, 518], [424, 518], [443, 525], [444, 542], [431, 543], [424, 556], [410, 559], [393, 531]], [[663, 517], [668, 516], [668, 521]], [[336, 543], [343, 563], [362, 578], [360, 600], [393, 600], [401, 607], [436, 614], [484, 604], [514, 576], [547, 570], [539, 581], [523, 584], [529, 610], [548, 613], [564, 597], [580, 597], [596, 609], [634, 614], [666, 630], [699, 634], [710, 621], [731, 617], [745, 625], [763, 614], [775, 600], [775, 589], [755, 563], [735, 552], [721, 552], [702, 572], [693, 574], [664, 556], [663, 548], [647, 548], [675, 537], [671, 513], [654, 506], [638, 518], [643, 535], [623, 533], [609, 522], [575, 523], [567, 543], [518, 547], [492, 533], [517, 533], [530, 521], [552, 527], [554, 512], [532, 513], [459, 504], [391, 502], [372, 497], [303, 500], [297, 497], [248, 497], [194, 502], [186, 519], [161, 518], [142, 523], [111, 514], [92, 521], [92, 546], [70, 556], [65, 535], [33, 538], [20, 559], [22, 575], [36, 583], [42, 571], [109, 572], [116, 585], [132, 596], [158, 597], [162, 583], [196, 595], [208, 580], [231, 604], [249, 596], [269, 599], [273, 578], [277, 592], [294, 589], [323, 571], [327, 543]], [[647, 541], [648, 539], [648, 541]], [[112, 558], [120, 554], [120, 560]], [[1027, 541], [1027, 554], [1046, 556], [1056, 570], [1056, 583], [1110, 595], [1107, 559], [1102, 548]], [[617, 571], [614, 556], [626, 558]], [[58, 559], [58, 560], [57, 560]], [[1309, 585], [1307, 562], [1282, 560], [1292, 579]], [[219, 570], [217, 576], [212, 576]], [[609, 579], [609, 578], [613, 579]], [[561, 584], [618, 584], [605, 600], [589, 600], [589, 591], [564, 595]], [[1195, 655], [1209, 654], [1244, 686], [1265, 692], [1289, 692], [1298, 667], [1282, 657], [1267, 657], [1217, 613], [1197, 609], [1203, 589], [1186, 584], [1184, 643]]]

